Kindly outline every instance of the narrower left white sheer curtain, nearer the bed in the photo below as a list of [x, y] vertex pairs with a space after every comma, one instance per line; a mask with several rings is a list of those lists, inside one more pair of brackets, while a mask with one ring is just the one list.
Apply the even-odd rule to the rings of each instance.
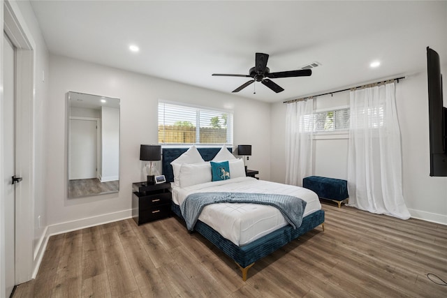
[[314, 100], [288, 103], [286, 112], [286, 184], [302, 186], [312, 175]]

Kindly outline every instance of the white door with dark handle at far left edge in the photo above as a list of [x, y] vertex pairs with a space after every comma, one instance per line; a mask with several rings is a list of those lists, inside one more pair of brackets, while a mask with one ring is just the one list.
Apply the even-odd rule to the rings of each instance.
[[[5, 269], [6, 297], [15, 285], [15, 55], [14, 47], [3, 33], [3, 152], [5, 179]], [[2, 296], [4, 293], [0, 293]]]

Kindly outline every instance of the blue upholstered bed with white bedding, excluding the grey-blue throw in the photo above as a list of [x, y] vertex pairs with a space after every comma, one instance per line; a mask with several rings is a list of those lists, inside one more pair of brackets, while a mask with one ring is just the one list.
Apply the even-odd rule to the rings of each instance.
[[[194, 148], [195, 149], [195, 148]], [[200, 159], [212, 161], [213, 158], [225, 158], [223, 148], [198, 148]], [[189, 160], [180, 161], [191, 151], [188, 148], [163, 148], [162, 170], [166, 181], [171, 183], [173, 194], [173, 212], [184, 221], [180, 206], [183, 200], [193, 193], [226, 192], [236, 193], [285, 193], [302, 198], [307, 202], [302, 223], [298, 228], [288, 224], [284, 216], [272, 206], [245, 203], [219, 203], [203, 208], [193, 230], [202, 234], [223, 253], [233, 259], [242, 271], [242, 279], [247, 280], [250, 267], [266, 255], [288, 244], [293, 239], [305, 234], [318, 225], [324, 230], [324, 211], [316, 193], [300, 188], [270, 181], [260, 181], [251, 177], [244, 177], [244, 170], [240, 172], [242, 160], [230, 161], [231, 179], [223, 181], [207, 181], [209, 177], [201, 177], [200, 167], [205, 163]], [[231, 155], [230, 155], [231, 156]], [[196, 156], [198, 158], [198, 156]], [[234, 158], [234, 156], [233, 156]], [[171, 163], [179, 161], [177, 164]], [[233, 167], [232, 167], [233, 164]], [[243, 167], [242, 167], [243, 169]], [[177, 179], [177, 177], [181, 179]], [[179, 181], [177, 181], [179, 180]], [[239, 214], [239, 215], [237, 215]], [[243, 214], [243, 216], [240, 216]]]

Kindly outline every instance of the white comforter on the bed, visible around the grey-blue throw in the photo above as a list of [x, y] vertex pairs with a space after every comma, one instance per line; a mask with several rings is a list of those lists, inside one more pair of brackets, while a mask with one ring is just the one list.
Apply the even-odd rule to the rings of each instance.
[[[185, 188], [173, 186], [173, 202], [180, 205], [191, 193], [210, 191], [293, 195], [307, 202], [303, 216], [321, 209], [318, 195], [307, 188], [257, 180], [251, 177], [207, 182]], [[211, 228], [237, 246], [249, 244], [251, 241], [288, 224], [278, 209], [262, 204], [211, 204], [203, 208], [198, 219], [210, 225]]]

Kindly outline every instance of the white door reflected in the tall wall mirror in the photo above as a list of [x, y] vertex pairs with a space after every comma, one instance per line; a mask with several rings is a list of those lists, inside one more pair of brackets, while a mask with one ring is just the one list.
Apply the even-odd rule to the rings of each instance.
[[96, 178], [96, 121], [70, 119], [70, 177]]

